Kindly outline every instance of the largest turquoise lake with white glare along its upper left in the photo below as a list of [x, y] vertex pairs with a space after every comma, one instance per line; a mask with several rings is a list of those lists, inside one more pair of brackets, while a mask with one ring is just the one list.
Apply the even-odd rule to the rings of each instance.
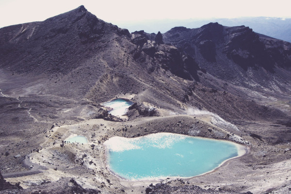
[[232, 142], [174, 133], [137, 138], [115, 136], [104, 145], [107, 167], [128, 180], [194, 177], [245, 154], [244, 146]]

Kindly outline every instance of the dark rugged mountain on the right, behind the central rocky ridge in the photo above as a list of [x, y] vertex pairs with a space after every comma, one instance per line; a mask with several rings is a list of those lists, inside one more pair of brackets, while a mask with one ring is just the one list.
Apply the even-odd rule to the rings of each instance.
[[[225, 27], [209, 23], [196, 29], [175, 27], [163, 34], [164, 42], [183, 50], [211, 75], [241, 84], [250, 80], [265, 85], [265, 70], [291, 69], [291, 44], [253, 32], [245, 26]], [[252, 70], [251, 70], [252, 69]], [[262, 70], [264, 69], [264, 70]], [[247, 76], [246, 72], [261, 73]], [[282, 81], [289, 72], [279, 73]], [[261, 77], [263, 76], [263, 77]]]

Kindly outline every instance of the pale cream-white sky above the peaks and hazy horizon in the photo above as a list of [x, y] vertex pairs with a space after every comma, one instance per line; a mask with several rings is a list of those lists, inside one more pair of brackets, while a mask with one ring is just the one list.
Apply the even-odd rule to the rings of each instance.
[[291, 0], [0, 0], [0, 28], [43, 21], [80, 5], [117, 25], [150, 19], [291, 17]]

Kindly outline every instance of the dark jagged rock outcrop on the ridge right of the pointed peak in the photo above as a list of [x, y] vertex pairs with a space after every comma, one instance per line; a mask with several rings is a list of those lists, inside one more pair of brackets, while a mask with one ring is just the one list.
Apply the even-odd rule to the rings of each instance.
[[164, 44], [161, 32], [156, 35], [144, 31], [133, 32], [131, 41], [139, 46], [134, 52], [136, 61], [146, 60], [143, 53], [154, 61], [155, 65], [149, 67], [149, 72], [163, 68], [183, 79], [198, 80], [197, 71], [200, 68], [195, 60], [183, 50]]

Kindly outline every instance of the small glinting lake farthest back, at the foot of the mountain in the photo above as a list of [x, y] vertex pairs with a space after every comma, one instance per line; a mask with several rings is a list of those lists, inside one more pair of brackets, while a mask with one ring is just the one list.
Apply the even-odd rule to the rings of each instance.
[[113, 110], [109, 112], [113, 116], [122, 116], [128, 111], [129, 106], [132, 104], [133, 102], [129, 100], [117, 98], [103, 103], [103, 106], [113, 108]]

